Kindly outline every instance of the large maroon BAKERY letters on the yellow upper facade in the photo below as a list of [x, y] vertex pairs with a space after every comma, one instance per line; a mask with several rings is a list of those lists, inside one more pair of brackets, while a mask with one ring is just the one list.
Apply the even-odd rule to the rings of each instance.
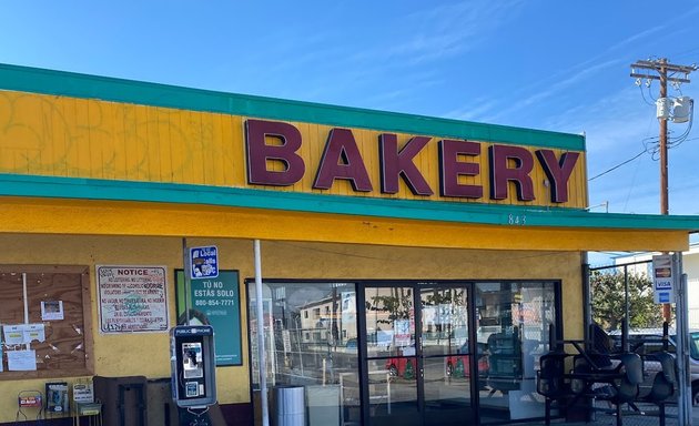
[[[580, 152], [557, 153], [553, 149], [530, 149], [513, 144], [486, 143], [448, 138], [413, 135], [398, 143], [398, 135], [376, 132], [371, 151], [362, 152], [355, 132], [328, 128], [320, 160], [311, 161], [300, 128], [280, 121], [245, 121], [247, 183], [250, 185], [292, 186], [308, 174], [312, 190], [331, 190], [338, 181], [351, 184], [355, 193], [392, 195], [404, 184], [413, 195], [429, 197], [502, 201], [510, 191], [521, 202], [547, 194], [551, 203], [567, 203], [574, 171], [584, 168]], [[307, 135], [307, 132], [306, 132]], [[325, 138], [323, 138], [325, 136]], [[432, 146], [430, 146], [432, 145]], [[436, 145], [436, 149], [434, 149]], [[426, 158], [429, 153], [435, 158]], [[311, 164], [317, 164], [311, 166]], [[371, 170], [374, 168], [375, 170]], [[429, 174], [438, 173], [435, 183]], [[378, 182], [372, 179], [378, 175]]]

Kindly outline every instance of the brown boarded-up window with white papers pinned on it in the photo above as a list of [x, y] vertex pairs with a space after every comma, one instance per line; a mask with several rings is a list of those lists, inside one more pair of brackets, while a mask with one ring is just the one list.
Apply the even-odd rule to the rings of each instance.
[[[88, 266], [0, 265], [0, 379], [93, 374], [88, 271]], [[28, 329], [33, 335], [20, 343], [21, 332], [28, 335]], [[36, 357], [36, 369], [28, 354]]]

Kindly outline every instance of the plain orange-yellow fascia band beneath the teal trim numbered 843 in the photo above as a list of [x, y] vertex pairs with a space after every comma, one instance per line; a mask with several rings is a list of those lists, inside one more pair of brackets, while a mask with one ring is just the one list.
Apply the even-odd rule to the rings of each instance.
[[161, 203], [10, 197], [6, 233], [153, 235], [537, 251], [683, 251], [686, 231], [510, 227]]

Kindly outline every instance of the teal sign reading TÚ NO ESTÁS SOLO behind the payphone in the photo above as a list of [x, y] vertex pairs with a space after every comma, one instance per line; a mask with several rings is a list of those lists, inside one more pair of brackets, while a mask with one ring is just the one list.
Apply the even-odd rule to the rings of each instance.
[[[184, 275], [176, 273], [178, 313], [184, 315]], [[237, 271], [221, 271], [216, 278], [191, 280], [190, 324], [214, 327], [214, 348], [217, 366], [242, 365], [241, 296]], [[181, 317], [180, 323], [184, 323]]]

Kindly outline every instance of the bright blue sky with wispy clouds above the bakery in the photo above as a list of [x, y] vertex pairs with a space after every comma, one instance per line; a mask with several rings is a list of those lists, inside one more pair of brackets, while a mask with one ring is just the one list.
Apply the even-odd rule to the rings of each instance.
[[[0, 62], [585, 132], [591, 178], [658, 135], [658, 82], [629, 65], [699, 63], [696, 28], [689, 0], [2, 1]], [[699, 131], [669, 159], [670, 213], [699, 214]], [[659, 164], [642, 154], [589, 192], [594, 211], [659, 213]]]

